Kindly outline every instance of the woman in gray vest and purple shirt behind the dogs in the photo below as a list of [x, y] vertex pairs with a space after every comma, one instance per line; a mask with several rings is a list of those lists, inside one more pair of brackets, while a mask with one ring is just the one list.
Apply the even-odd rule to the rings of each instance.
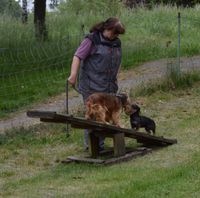
[[[109, 18], [94, 25], [76, 50], [68, 82], [75, 85], [80, 67], [79, 91], [84, 102], [95, 92], [116, 93], [117, 74], [121, 64], [121, 41], [124, 25], [118, 18]], [[88, 131], [85, 130], [85, 148], [88, 148]], [[100, 149], [104, 142], [100, 140]]]

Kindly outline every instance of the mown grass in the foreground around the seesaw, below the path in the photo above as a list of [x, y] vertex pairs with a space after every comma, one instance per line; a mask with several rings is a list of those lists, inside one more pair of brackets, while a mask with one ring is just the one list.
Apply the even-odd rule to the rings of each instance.
[[[142, 114], [156, 121], [157, 135], [177, 138], [178, 144], [122, 164], [58, 163], [83, 155], [82, 131], [73, 129], [66, 138], [63, 125], [7, 132], [0, 138], [0, 196], [199, 197], [199, 85], [136, 98]], [[123, 123], [128, 127], [128, 118]]]

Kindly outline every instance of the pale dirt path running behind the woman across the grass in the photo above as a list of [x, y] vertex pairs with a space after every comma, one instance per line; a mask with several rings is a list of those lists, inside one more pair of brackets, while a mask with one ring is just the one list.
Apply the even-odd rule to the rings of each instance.
[[[168, 60], [169, 62], [169, 60]], [[167, 60], [152, 61], [137, 67], [136, 69], [123, 71], [119, 75], [119, 90], [129, 91], [138, 85], [146, 84], [149, 81], [161, 79], [166, 74]], [[181, 71], [200, 70], [200, 56], [192, 58], [181, 58]], [[39, 104], [31, 108], [32, 110], [44, 111], [65, 111], [65, 94], [49, 99], [43, 104]], [[69, 112], [72, 112], [77, 104], [82, 104], [82, 98], [74, 91], [69, 94]], [[37, 119], [26, 116], [26, 112], [15, 113], [11, 118], [0, 120], [0, 133], [12, 127], [30, 126], [39, 123]]]

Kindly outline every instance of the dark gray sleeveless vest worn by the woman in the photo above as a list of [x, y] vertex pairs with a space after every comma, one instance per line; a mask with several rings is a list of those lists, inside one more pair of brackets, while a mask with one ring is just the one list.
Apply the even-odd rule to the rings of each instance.
[[79, 91], [83, 96], [95, 92], [116, 93], [117, 73], [121, 64], [120, 40], [106, 40], [98, 32], [91, 33], [86, 38], [93, 42], [95, 52], [81, 62]]

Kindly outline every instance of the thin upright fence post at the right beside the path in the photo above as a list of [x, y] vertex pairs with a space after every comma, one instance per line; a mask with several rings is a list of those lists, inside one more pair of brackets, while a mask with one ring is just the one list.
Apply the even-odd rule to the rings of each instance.
[[180, 76], [180, 68], [181, 68], [180, 50], [181, 50], [181, 13], [178, 12], [178, 47], [177, 47], [177, 68], [176, 68], [178, 76]]

